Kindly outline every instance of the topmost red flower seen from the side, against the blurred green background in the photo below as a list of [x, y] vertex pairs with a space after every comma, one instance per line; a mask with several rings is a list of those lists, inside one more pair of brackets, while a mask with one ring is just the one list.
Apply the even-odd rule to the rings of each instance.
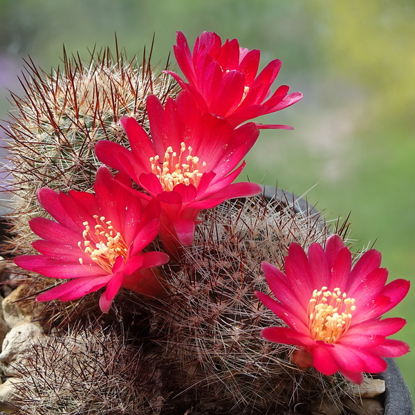
[[[203, 112], [226, 118], [232, 127], [289, 107], [302, 98], [299, 92], [288, 95], [286, 85], [271, 94], [282, 62], [273, 60], [257, 75], [259, 50], [240, 48], [237, 39], [222, 45], [216, 33], [203, 32], [196, 39], [192, 56], [185, 35], [177, 32], [174, 55], [188, 83], [172, 71], [167, 73], [193, 95]], [[286, 125], [261, 128], [292, 129]]]

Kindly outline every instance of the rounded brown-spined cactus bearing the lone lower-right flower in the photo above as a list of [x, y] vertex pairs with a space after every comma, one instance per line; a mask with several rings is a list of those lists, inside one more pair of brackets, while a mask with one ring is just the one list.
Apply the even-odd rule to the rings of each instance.
[[200, 405], [242, 413], [288, 407], [293, 394], [335, 398], [340, 378], [331, 384], [316, 371], [305, 374], [290, 363], [294, 347], [261, 338], [261, 328], [277, 322], [253, 294], [268, 290], [261, 261], [282, 266], [291, 241], [307, 247], [325, 240], [321, 216], [316, 221], [289, 203], [282, 208], [256, 196], [225, 202], [201, 219], [194, 244], [167, 271], [172, 295], [154, 308], [158, 344], [178, 388], [194, 393]]

